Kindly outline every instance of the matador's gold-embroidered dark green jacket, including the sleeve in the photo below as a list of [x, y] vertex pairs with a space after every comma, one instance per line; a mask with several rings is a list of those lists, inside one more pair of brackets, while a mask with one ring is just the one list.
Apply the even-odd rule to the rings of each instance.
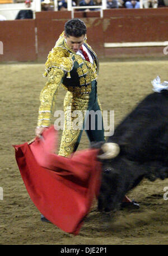
[[49, 76], [49, 80], [40, 94], [38, 127], [50, 125], [55, 96], [60, 85], [76, 97], [91, 92], [91, 82], [97, 79], [99, 62], [90, 45], [86, 41], [84, 44], [94, 59], [94, 64], [72, 52], [66, 44], [64, 32], [49, 53], [44, 73], [44, 76]]

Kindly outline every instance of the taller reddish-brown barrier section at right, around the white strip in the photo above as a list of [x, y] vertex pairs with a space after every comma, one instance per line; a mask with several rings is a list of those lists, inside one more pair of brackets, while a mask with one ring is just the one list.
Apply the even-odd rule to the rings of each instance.
[[[168, 41], [168, 8], [105, 10], [104, 43]], [[142, 44], [143, 45], [143, 44]], [[168, 45], [168, 43], [167, 43]], [[162, 55], [163, 46], [104, 48], [104, 57]]]

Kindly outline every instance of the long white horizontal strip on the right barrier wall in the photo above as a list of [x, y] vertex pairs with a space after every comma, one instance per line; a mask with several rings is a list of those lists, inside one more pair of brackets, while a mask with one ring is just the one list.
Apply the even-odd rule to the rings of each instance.
[[104, 43], [105, 48], [120, 48], [120, 47], [144, 47], [144, 46], [167, 46], [165, 42], [134, 42], [134, 43]]

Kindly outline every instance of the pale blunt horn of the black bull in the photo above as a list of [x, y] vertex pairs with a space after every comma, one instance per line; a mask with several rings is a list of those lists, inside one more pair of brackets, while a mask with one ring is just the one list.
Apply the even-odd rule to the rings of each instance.
[[104, 143], [104, 145], [101, 146], [101, 149], [104, 153], [97, 156], [99, 159], [111, 159], [116, 157], [120, 152], [120, 147], [116, 143]]

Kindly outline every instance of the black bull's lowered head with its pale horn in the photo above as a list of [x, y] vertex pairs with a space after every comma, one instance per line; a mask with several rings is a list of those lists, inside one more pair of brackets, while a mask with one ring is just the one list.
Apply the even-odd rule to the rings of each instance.
[[129, 161], [120, 152], [116, 143], [101, 145], [102, 180], [99, 194], [98, 208], [100, 211], [110, 212], [120, 208], [125, 194], [135, 187], [143, 178], [143, 168]]

